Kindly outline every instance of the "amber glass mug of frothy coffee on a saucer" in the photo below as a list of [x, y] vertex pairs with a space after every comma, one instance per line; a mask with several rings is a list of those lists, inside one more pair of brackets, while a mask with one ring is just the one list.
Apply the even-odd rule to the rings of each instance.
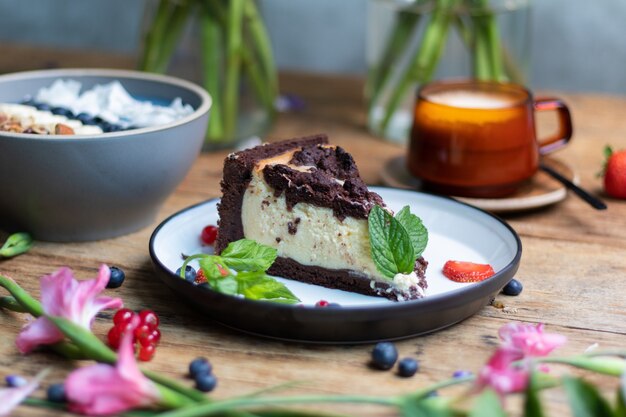
[[[538, 139], [534, 115], [546, 110], [557, 112], [559, 131]], [[407, 167], [430, 191], [506, 197], [537, 172], [540, 155], [571, 137], [559, 99], [533, 99], [517, 84], [439, 81], [418, 92]]]

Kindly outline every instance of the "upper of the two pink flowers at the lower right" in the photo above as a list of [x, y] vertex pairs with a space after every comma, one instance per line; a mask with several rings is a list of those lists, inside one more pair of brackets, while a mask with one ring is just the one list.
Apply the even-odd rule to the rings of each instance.
[[567, 341], [563, 335], [544, 333], [542, 323], [523, 324], [509, 323], [498, 332], [502, 340], [502, 347], [520, 351], [524, 357], [547, 356]]

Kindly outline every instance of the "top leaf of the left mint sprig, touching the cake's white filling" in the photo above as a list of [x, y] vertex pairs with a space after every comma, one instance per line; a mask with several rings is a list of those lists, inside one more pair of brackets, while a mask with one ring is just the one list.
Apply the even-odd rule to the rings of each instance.
[[276, 256], [276, 249], [250, 239], [231, 242], [220, 254], [224, 266], [236, 271], [266, 271]]

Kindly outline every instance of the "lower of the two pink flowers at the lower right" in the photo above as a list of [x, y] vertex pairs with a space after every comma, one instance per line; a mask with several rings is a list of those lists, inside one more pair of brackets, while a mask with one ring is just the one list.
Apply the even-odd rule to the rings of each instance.
[[528, 370], [513, 366], [522, 356], [510, 349], [498, 349], [478, 374], [476, 385], [479, 389], [491, 387], [500, 396], [521, 392], [528, 384]]

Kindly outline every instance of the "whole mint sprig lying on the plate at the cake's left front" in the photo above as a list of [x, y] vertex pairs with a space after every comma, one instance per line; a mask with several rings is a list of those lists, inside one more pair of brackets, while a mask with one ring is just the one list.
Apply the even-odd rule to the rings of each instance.
[[250, 300], [298, 303], [300, 299], [284, 284], [266, 274], [276, 256], [274, 248], [254, 240], [240, 239], [229, 243], [220, 255], [197, 254], [187, 257], [180, 268], [180, 276], [185, 277], [185, 267], [189, 262], [199, 259], [200, 269], [215, 291]]

